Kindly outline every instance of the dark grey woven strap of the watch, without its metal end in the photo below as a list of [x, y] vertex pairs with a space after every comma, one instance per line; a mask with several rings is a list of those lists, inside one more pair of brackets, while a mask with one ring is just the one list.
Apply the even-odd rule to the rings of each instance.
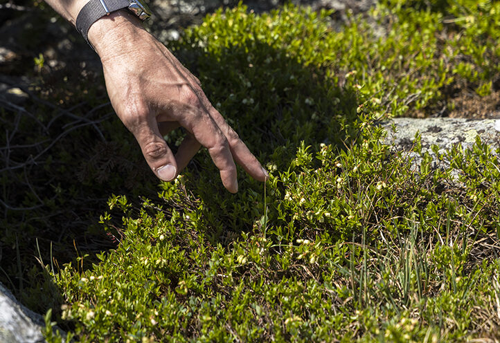
[[[82, 34], [87, 43], [90, 44], [89, 33], [90, 26], [100, 17], [109, 15], [109, 13], [130, 5], [129, 0], [90, 0], [78, 13], [76, 18], [76, 29]], [[90, 44], [91, 45], [91, 44]]]

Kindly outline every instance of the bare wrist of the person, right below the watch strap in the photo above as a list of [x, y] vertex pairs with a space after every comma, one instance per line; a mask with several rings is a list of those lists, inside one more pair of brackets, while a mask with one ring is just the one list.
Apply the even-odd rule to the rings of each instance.
[[88, 32], [89, 42], [101, 59], [126, 49], [134, 37], [146, 33], [141, 20], [128, 10], [111, 12], [94, 22]]

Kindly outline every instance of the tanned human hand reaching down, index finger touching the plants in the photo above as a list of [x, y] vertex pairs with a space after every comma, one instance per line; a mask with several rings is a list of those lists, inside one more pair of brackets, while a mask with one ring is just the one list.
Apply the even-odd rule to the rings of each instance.
[[[229, 192], [238, 192], [235, 163], [253, 178], [269, 174], [202, 91], [199, 80], [126, 11], [111, 13], [89, 29], [104, 70], [111, 104], [135, 136], [154, 174], [170, 181], [197, 151], [208, 149]], [[163, 139], [188, 132], [175, 156]]]

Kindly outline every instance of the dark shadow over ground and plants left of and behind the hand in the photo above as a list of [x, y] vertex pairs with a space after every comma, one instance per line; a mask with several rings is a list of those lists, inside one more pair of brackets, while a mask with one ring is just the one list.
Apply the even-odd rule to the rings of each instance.
[[[62, 296], [41, 265], [57, 271], [62, 263], [88, 254], [82, 268], [89, 268], [96, 253], [116, 246], [98, 224], [107, 198], [126, 194], [139, 204], [142, 196], [156, 198], [158, 181], [115, 118], [95, 57], [91, 64], [82, 58], [92, 51], [62, 19], [44, 24], [52, 14], [37, 14], [31, 8], [10, 19], [22, 23], [19, 28], [30, 27], [26, 32], [10, 26], [18, 37], [15, 44], [26, 40], [32, 45], [12, 57], [15, 68], [5, 64], [1, 71], [0, 81], [8, 87], [4, 94], [12, 97], [0, 99], [0, 281], [29, 308], [45, 313], [59, 310]], [[30, 32], [32, 37], [21, 37]], [[54, 39], [66, 33], [67, 38]], [[356, 118], [354, 93], [284, 51], [258, 40], [253, 44], [230, 46], [217, 56], [180, 45], [177, 55], [200, 75], [208, 97], [221, 103], [222, 113], [260, 160], [283, 169], [302, 140], [341, 147], [341, 123]], [[251, 63], [249, 48], [255, 57]], [[265, 64], [268, 57], [272, 62]], [[225, 75], [215, 66], [224, 66]], [[241, 93], [242, 80], [253, 83], [251, 97]], [[307, 101], [310, 106], [304, 109]], [[260, 210], [239, 204], [251, 192], [261, 192], [261, 184], [240, 170], [240, 193], [231, 196], [204, 152], [189, 170], [186, 184], [211, 214], [207, 230], [214, 243], [227, 243], [227, 232], [252, 230], [245, 223]]]

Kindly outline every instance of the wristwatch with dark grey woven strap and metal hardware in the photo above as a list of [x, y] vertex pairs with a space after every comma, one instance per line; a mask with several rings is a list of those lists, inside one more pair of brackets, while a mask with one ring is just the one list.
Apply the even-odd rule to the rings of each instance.
[[90, 44], [87, 34], [90, 26], [97, 19], [109, 15], [109, 13], [122, 8], [128, 8], [139, 19], [144, 21], [151, 16], [151, 10], [144, 0], [90, 0], [82, 7], [76, 17], [76, 29], [82, 34], [87, 43]]

